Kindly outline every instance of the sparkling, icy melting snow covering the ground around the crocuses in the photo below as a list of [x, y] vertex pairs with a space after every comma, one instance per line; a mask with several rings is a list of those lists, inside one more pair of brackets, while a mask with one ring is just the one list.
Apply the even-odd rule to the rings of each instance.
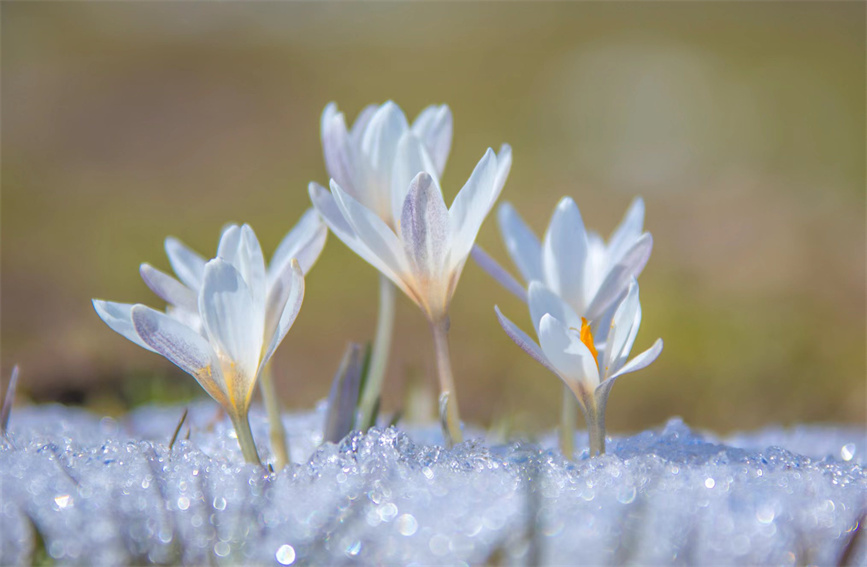
[[[190, 406], [172, 450], [182, 407], [14, 410], [0, 564], [827, 565], [867, 510], [862, 428], [720, 440], [672, 419], [569, 462], [553, 435], [488, 446], [470, 430], [449, 451], [434, 427], [319, 446], [320, 405], [285, 416], [295, 464], [269, 473], [215, 408]], [[251, 422], [270, 458], [264, 416]], [[865, 539], [849, 562], [867, 564]]]

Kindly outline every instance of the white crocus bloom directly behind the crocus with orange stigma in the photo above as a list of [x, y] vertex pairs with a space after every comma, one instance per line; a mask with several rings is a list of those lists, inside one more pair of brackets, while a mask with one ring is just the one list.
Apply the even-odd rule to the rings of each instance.
[[594, 322], [620, 299], [629, 281], [637, 278], [653, 248], [643, 232], [644, 201], [636, 198], [623, 221], [606, 243], [588, 232], [578, 206], [570, 197], [557, 204], [542, 242], [514, 207], [503, 203], [498, 211], [503, 241], [527, 283], [539, 280]]

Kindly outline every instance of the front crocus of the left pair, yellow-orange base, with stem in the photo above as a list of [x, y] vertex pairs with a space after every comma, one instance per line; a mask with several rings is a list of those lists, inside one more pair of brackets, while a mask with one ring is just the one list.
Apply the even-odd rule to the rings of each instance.
[[269, 286], [256, 235], [248, 225], [235, 225], [223, 232], [217, 258], [205, 263], [199, 276], [200, 329], [140, 304], [94, 300], [93, 305], [109, 327], [192, 375], [226, 410], [244, 458], [258, 463], [247, 419], [250, 400], [298, 315], [304, 275], [292, 259], [277, 273], [278, 283]]

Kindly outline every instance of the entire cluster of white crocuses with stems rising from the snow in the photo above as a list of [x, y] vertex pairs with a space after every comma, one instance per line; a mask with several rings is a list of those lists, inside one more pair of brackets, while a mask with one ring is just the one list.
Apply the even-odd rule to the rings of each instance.
[[[448, 311], [472, 252], [483, 268], [528, 302], [538, 343], [499, 308], [497, 317], [512, 340], [563, 381], [587, 420], [591, 454], [601, 453], [611, 385], [650, 364], [662, 350], [658, 340], [627, 362], [641, 321], [636, 278], [652, 247], [642, 228], [643, 202], [633, 203], [607, 243], [585, 230], [570, 198], [557, 206], [541, 242], [511, 205], [502, 205], [500, 228], [525, 282], [521, 284], [474, 248], [508, 177], [511, 149], [503, 145], [495, 153], [489, 148], [447, 207], [439, 180], [452, 133], [452, 114], [445, 105], [426, 108], [412, 124], [393, 102], [369, 106], [348, 128], [344, 115], [329, 104], [322, 114], [321, 137], [330, 190], [310, 184], [314, 209], [278, 246], [269, 266], [247, 225], [226, 228], [212, 260], [168, 238], [166, 253], [177, 278], [149, 264], [140, 270], [148, 287], [167, 303], [165, 312], [100, 300], [93, 301], [94, 308], [113, 330], [191, 374], [225, 409], [246, 460], [259, 462], [247, 417], [253, 390], [260, 381], [273, 445], [275, 427], [282, 426], [266, 366], [298, 315], [304, 274], [324, 246], [327, 226], [381, 277], [376, 339], [356, 423], [366, 427], [375, 419], [397, 288], [431, 326], [444, 438], [460, 442]], [[563, 445], [567, 456], [572, 431], [569, 425], [570, 442]], [[286, 460], [278, 459], [278, 464]]]

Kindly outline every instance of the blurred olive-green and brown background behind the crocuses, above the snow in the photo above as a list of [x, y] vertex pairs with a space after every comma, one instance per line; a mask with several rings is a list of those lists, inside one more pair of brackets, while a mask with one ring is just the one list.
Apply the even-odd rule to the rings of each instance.
[[[248, 222], [267, 255], [326, 182], [319, 115], [448, 103], [447, 202], [488, 146], [542, 232], [563, 195], [610, 233], [635, 195], [655, 248], [609, 428], [865, 422], [863, 3], [8, 3], [2, 10], [3, 380], [22, 402], [119, 414], [201, 395], [110, 331], [92, 297], [159, 300], [166, 235], [213, 254]], [[480, 243], [512, 267], [493, 218]], [[283, 402], [323, 398], [373, 334], [377, 278], [336, 238], [275, 359]], [[561, 386], [493, 313], [525, 308], [470, 263], [452, 309], [464, 417], [549, 429]], [[405, 298], [384, 406], [435, 386]], [[414, 385], [414, 386], [413, 386]]]

